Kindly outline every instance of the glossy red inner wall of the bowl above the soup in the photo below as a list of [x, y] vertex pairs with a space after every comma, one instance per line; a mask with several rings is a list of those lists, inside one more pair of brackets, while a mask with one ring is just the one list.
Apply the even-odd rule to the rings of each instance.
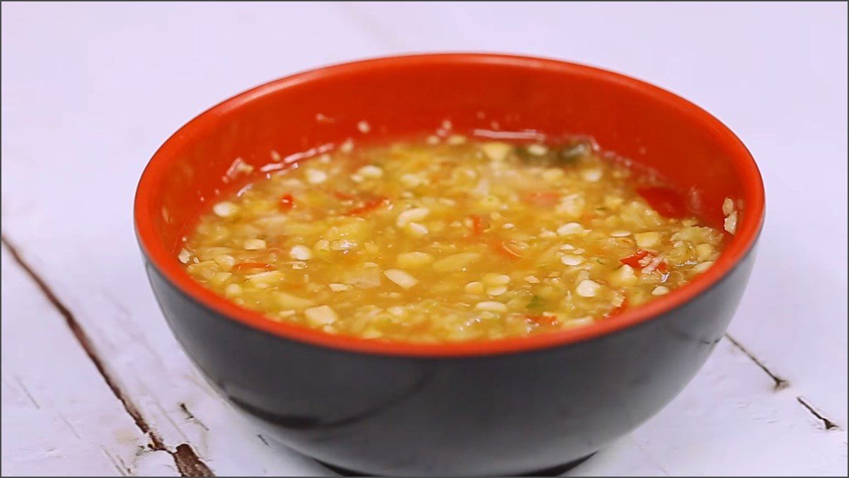
[[[359, 132], [359, 121], [368, 121], [370, 132]], [[434, 132], [443, 121], [467, 134], [534, 130], [592, 137], [602, 149], [655, 168], [687, 191], [691, 205], [714, 227], [722, 227], [724, 198], [737, 200], [737, 234], [707, 277], [694, 281], [704, 287], [745, 254], [762, 222], [761, 178], [745, 146], [714, 117], [672, 93], [554, 60], [420, 55], [290, 76], [190, 121], [157, 151], [139, 183], [136, 221], [143, 249], [167, 275], [182, 273], [174, 258], [181, 238], [199, 212], [234, 188], [227, 172], [237, 158], [259, 175], [273, 163], [272, 151], [295, 160], [348, 138]]]

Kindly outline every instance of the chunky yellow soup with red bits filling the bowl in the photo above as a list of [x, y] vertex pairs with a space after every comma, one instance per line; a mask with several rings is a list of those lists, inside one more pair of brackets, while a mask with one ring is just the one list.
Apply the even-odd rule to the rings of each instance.
[[705, 272], [724, 236], [591, 143], [454, 135], [273, 172], [220, 198], [177, 258], [268, 320], [445, 342], [605, 320]]

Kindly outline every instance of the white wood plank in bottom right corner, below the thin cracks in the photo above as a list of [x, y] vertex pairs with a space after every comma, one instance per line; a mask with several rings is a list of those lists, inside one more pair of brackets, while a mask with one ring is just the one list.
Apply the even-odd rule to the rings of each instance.
[[846, 430], [826, 430], [728, 340], [667, 408], [636, 430], [668, 475], [841, 475]]

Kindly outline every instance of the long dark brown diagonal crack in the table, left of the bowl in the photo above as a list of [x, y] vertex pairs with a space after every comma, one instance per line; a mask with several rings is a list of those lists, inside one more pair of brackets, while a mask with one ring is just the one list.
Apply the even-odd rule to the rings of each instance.
[[36, 283], [39, 290], [42, 291], [45, 298], [48, 302], [59, 312], [59, 314], [65, 318], [65, 323], [68, 325], [70, 332], [74, 335], [77, 343], [82, 347], [82, 351], [84, 351], [92, 361], [94, 368], [97, 369], [98, 374], [104, 379], [106, 385], [112, 391], [112, 394], [115, 395], [115, 398], [121, 402], [124, 410], [132, 418], [132, 421], [135, 422], [138, 430], [141, 430], [143, 434], [147, 435], [150, 444], [149, 447], [151, 450], [166, 452], [174, 458], [174, 464], [177, 465], [177, 470], [180, 472], [182, 476], [215, 476], [212, 473], [212, 470], [209, 469], [208, 466], [200, 459], [197, 453], [194, 453], [194, 449], [188, 445], [188, 443], [182, 443], [177, 445], [177, 448], [174, 452], [171, 452], [170, 449], [165, 444], [165, 441], [159, 436], [155, 430], [151, 429], [150, 425], [142, 416], [142, 413], [138, 411], [138, 407], [130, 400], [127, 394], [121, 390], [121, 387], [115, 382], [112, 375], [106, 370], [104, 365], [104, 361], [99, 357], [97, 350], [93, 346], [91, 338], [88, 337], [86, 331], [82, 329], [80, 323], [76, 321], [74, 314], [70, 312], [65, 304], [59, 300], [59, 296], [56, 295], [55, 292], [50, 288], [50, 286], [44, 281], [44, 279], [36, 273], [36, 271], [30, 266], [28, 262], [24, 260], [24, 257], [20, 254], [20, 250], [12, 244], [11, 241], [8, 240], [6, 234], [0, 234], [0, 240], [2, 240], [3, 245], [8, 249], [9, 255], [12, 256], [12, 259], [24, 270], [26, 275], [28, 275], [33, 282]]

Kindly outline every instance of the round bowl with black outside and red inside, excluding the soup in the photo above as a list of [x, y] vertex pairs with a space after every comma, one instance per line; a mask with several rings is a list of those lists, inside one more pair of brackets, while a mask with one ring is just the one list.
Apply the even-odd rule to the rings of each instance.
[[[357, 124], [368, 121], [368, 135]], [[297, 159], [357, 141], [453, 131], [571, 133], [660, 171], [736, 233], [706, 273], [593, 325], [445, 344], [365, 340], [276, 323], [194, 282], [181, 238], [239, 158]], [[373, 475], [516, 475], [575, 463], [687, 385], [743, 294], [764, 191], [743, 143], [659, 87], [552, 59], [426, 54], [269, 82], [189, 121], [156, 151], [135, 226], [156, 299], [183, 349], [234, 408], [323, 463]]]

